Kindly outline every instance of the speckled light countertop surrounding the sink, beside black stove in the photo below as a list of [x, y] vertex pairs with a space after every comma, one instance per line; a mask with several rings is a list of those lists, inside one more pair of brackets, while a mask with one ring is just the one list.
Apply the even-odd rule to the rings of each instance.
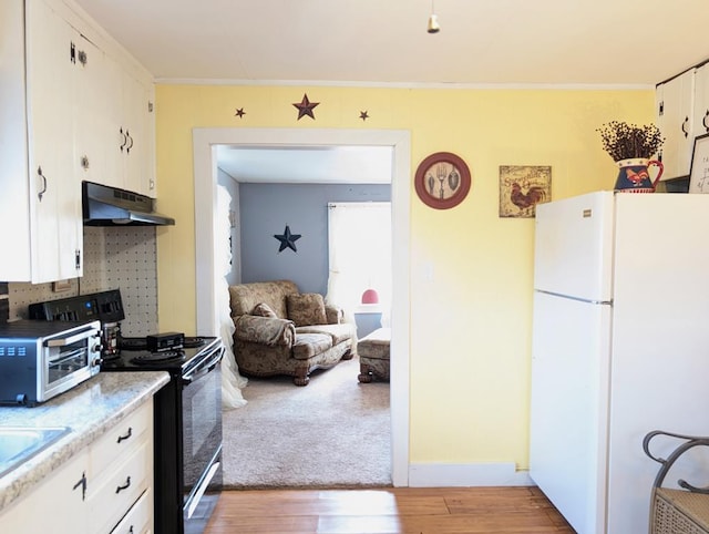
[[0, 477], [0, 513], [169, 381], [164, 371], [100, 372], [34, 408], [0, 407], [0, 427], [70, 427], [71, 432]]

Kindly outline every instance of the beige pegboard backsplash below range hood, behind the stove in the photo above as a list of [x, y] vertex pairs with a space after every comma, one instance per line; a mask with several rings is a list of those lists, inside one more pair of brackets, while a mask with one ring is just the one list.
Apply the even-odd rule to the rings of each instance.
[[25, 319], [33, 302], [120, 289], [125, 310], [124, 336], [157, 329], [157, 248], [154, 226], [84, 227], [84, 276], [54, 284], [10, 284], [9, 320]]

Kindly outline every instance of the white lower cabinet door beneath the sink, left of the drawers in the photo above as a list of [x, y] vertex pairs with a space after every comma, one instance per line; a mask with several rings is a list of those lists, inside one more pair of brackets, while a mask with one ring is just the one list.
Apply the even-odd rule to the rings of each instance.
[[89, 531], [86, 464], [81, 452], [0, 514], [0, 532], [78, 534]]

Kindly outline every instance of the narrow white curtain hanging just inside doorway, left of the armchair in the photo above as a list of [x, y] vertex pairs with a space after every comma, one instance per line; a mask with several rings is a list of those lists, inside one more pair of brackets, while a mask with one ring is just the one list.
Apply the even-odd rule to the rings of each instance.
[[232, 223], [229, 220], [230, 204], [232, 195], [229, 195], [227, 188], [223, 185], [217, 185], [216, 213], [220, 224], [216, 225], [214, 236], [215, 269], [217, 270], [214, 278], [219, 309], [219, 336], [226, 347], [224, 360], [222, 361], [222, 407], [224, 409], [240, 408], [246, 404], [242, 388], [247, 383], [247, 380], [239, 374], [234, 350], [232, 349], [234, 321], [232, 320], [229, 308], [229, 285], [225, 278], [232, 269], [232, 250], [229, 247], [232, 233]]

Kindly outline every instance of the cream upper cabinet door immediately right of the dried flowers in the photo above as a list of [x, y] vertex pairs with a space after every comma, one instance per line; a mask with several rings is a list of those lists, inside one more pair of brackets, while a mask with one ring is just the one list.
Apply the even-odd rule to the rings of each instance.
[[662, 179], [689, 175], [691, 163], [695, 70], [662, 83], [657, 90], [657, 124], [662, 135]]

